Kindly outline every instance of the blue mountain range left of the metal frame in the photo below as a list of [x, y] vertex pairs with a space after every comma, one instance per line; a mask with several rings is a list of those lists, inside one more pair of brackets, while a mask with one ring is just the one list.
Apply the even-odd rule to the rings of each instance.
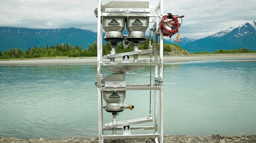
[[28, 29], [0, 27], [0, 50], [21, 48], [23, 50], [45, 47], [47, 44], [72, 44], [87, 48], [87, 44], [97, 41], [97, 33], [78, 28]]

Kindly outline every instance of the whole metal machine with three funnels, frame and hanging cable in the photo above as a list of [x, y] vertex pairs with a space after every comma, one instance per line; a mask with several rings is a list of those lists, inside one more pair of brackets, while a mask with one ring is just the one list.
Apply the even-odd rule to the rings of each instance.
[[[175, 30], [174, 33], [171, 33], [172, 35], [179, 32], [179, 23], [177, 27], [173, 22], [163, 23], [163, 0], [157, 4], [155, 13], [150, 13], [149, 3], [145, 1], [113, 1], [102, 5], [101, 0], [98, 0], [98, 8], [95, 9], [94, 13], [98, 18], [97, 81], [95, 84], [98, 88], [99, 143], [103, 143], [105, 139], [123, 138], [154, 138], [156, 143], [159, 143], [159, 138], [160, 143], [163, 143], [163, 33], [165, 34], [165, 32], [161, 29], [161, 23], [164, 28], [168, 26], [166, 28], [167, 34], [170, 34], [168, 30]], [[153, 60], [150, 42], [148, 49], [139, 49], [139, 44], [146, 40], [145, 31], [150, 22], [154, 23], [153, 27], [149, 29], [150, 35], [152, 32], [155, 36]], [[128, 35], [123, 35], [125, 28]], [[105, 31], [104, 37], [102, 35], [103, 30]], [[112, 49], [109, 51], [110, 54], [104, 56], [102, 55], [102, 37], [111, 43]], [[160, 39], [160, 51], [158, 51], [158, 38]], [[123, 48], [127, 48], [131, 43], [133, 51], [116, 53], [117, 44], [120, 42], [123, 42]], [[146, 53], [150, 55], [149, 62], [143, 58], [139, 59], [139, 55]], [[133, 60], [129, 60], [130, 56], [133, 56]], [[116, 58], [120, 57], [122, 62], [116, 62]], [[113, 73], [103, 76], [104, 66]], [[150, 71], [148, 71], [150, 72], [150, 84], [126, 84], [125, 74], [143, 66], [150, 66]], [[151, 66], [154, 66], [154, 84], [151, 84]], [[150, 90], [150, 110], [147, 117], [117, 121], [116, 116], [120, 112], [125, 109], [134, 109], [134, 105], [124, 104], [127, 90]], [[154, 91], [154, 115], [151, 115], [151, 90]], [[106, 102], [105, 105], [103, 105], [103, 99]], [[103, 124], [103, 109], [113, 115], [111, 122]], [[158, 112], [160, 112], [160, 117]], [[153, 121], [154, 125], [152, 126], [132, 126]], [[153, 133], [131, 134], [132, 130], [153, 130]], [[105, 135], [105, 131], [112, 131], [112, 135]], [[122, 135], [118, 135], [117, 132], [122, 132]]]

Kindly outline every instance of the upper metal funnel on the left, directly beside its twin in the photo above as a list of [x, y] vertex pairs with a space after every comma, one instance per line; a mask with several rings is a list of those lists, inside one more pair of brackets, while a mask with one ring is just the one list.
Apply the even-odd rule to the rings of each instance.
[[102, 26], [105, 33], [104, 39], [107, 42], [111, 42], [111, 45], [116, 45], [122, 42], [122, 31], [125, 28], [125, 18], [119, 17], [103, 17]]

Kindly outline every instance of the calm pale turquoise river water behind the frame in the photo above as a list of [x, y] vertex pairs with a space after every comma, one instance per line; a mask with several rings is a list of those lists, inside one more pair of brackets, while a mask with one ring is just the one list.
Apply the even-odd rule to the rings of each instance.
[[[0, 136], [97, 136], [96, 66], [0, 67]], [[149, 67], [126, 75], [149, 83]], [[110, 72], [104, 73], [108, 75]], [[128, 91], [118, 120], [148, 116], [149, 92]], [[104, 122], [111, 114], [104, 111]], [[164, 133], [256, 134], [256, 62], [202, 61], [164, 66]]]

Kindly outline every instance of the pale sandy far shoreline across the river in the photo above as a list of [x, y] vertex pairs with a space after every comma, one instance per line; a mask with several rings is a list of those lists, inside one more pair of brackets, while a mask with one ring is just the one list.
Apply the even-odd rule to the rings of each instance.
[[[132, 58], [132, 57], [131, 57]], [[144, 57], [149, 61], [149, 57]], [[143, 59], [139, 57], [139, 59]], [[244, 62], [244, 59], [253, 59], [249, 62], [256, 61], [255, 53], [244, 54], [192, 54], [189, 56], [164, 56], [164, 63], [175, 62], [193, 62], [202, 60], [234, 60], [231, 62]], [[255, 60], [254, 60], [255, 59]], [[116, 62], [120, 62], [122, 59], [116, 59]], [[130, 59], [131, 61], [131, 59]], [[2, 59], [0, 60], [0, 66], [43, 66], [43, 65], [96, 65], [97, 57], [61, 57], [61, 58], [42, 58], [42, 59]], [[103, 62], [108, 62], [105, 59]], [[248, 62], [248, 61], [247, 61]]]

